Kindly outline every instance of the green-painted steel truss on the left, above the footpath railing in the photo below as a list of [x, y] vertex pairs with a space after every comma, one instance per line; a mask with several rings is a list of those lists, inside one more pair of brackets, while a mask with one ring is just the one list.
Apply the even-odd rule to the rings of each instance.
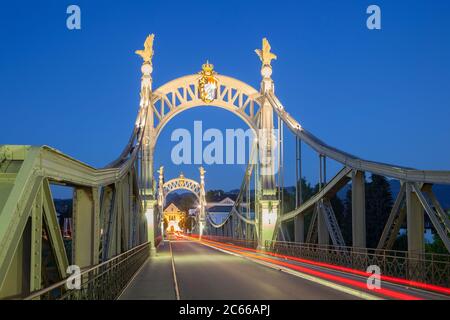
[[[47, 254], [57, 266], [54, 276], [62, 279], [68, 261], [95, 265], [146, 241], [137, 153], [127, 159], [94, 169], [49, 147], [0, 146], [0, 297], [40, 289], [47, 281], [41, 270]], [[54, 183], [73, 187], [71, 252], [57, 219]]]

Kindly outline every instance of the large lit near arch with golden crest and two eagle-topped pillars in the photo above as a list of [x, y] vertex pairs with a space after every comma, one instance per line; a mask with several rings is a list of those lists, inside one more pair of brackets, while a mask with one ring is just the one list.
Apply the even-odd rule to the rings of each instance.
[[[164, 126], [177, 114], [195, 108], [214, 106], [227, 110], [241, 118], [257, 137], [254, 145], [257, 148], [255, 160], [257, 161], [258, 183], [261, 186], [261, 195], [258, 205], [259, 216], [278, 217], [279, 201], [276, 199], [275, 182], [275, 151], [276, 145], [273, 116], [274, 110], [267, 99], [267, 94], [274, 91], [274, 82], [271, 78], [271, 61], [276, 58], [271, 53], [267, 39], [263, 39], [262, 49], [256, 50], [261, 64], [261, 88], [256, 90], [240, 80], [218, 75], [214, 66], [208, 62], [202, 65], [199, 74], [187, 75], [170, 81], [156, 90], [152, 89], [152, 57], [153, 39], [150, 35], [144, 50], [137, 53], [143, 58], [141, 67], [141, 102], [140, 115], [136, 122], [136, 131], [143, 141], [141, 150], [140, 168], [142, 169], [142, 201], [143, 208], [148, 217], [148, 238], [153, 239], [155, 225], [155, 205], [158, 200], [164, 199], [164, 190], [156, 191], [153, 176], [154, 150], [156, 141]], [[160, 183], [160, 186], [162, 184]], [[158, 190], [159, 191], [159, 190]], [[203, 200], [203, 198], [201, 198]], [[162, 201], [159, 201], [162, 204]], [[159, 206], [160, 207], [160, 206]], [[276, 219], [257, 219], [258, 247], [264, 248], [266, 240], [271, 240], [276, 230]], [[261, 221], [261, 223], [259, 223]], [[200, 230], [205, 223], [204, 208], [200, 215]]]

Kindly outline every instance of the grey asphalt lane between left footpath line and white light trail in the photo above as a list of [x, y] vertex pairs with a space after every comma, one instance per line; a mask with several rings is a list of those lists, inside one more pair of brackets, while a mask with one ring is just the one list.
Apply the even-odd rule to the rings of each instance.
[[357, 299], [192, 241], [172, 241], [180, 299]]

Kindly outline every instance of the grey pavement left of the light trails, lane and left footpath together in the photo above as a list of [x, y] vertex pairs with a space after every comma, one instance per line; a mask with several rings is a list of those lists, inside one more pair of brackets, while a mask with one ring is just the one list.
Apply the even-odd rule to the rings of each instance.
[[[194, 241], [172, 241], [181, 299], [356, 299], [355, 296]], [[170, 251], [136, 275], [121, 299], [175, 299]]]

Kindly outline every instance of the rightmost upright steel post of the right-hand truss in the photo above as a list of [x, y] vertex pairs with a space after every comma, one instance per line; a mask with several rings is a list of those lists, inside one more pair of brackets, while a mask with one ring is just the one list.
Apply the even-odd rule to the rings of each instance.
[[424, 214], [423, 207], [413, 191], [410, 182], [406, 182], [406, 223], [408, 235], [408, 255], [418, 257], [424, 253]]

